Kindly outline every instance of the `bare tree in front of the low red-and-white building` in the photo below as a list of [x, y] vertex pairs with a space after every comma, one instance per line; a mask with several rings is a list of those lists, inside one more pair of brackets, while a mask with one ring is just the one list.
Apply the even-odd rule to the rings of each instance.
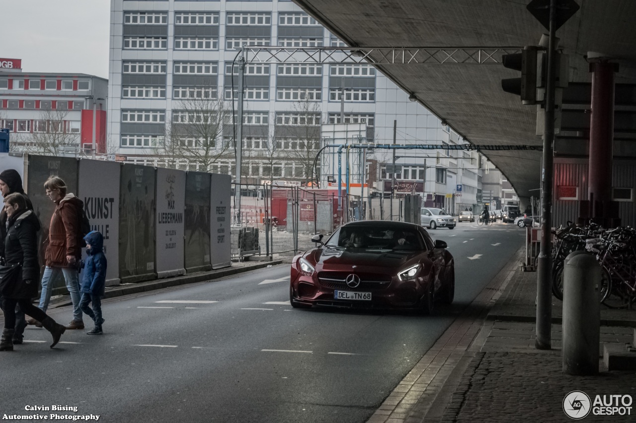
[[[39, 120], [33, 121], [32, 128], [16, 128], [18, 132], [29, 131], [29, 135], [18, 134], [15, 137], [16, 151], [59, 156], [67, 149], [79, 148], [79, 125], [73, 126], [66, 119], [68, 112], [64, 110], [45, 110]], [[12, 137], [13, 138], [13, 137]]]

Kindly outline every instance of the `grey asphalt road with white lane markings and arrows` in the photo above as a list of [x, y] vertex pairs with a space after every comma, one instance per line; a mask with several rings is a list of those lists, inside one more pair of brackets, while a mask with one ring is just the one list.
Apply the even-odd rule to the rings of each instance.
[[[55, 349], [45, 330], [29, 326], [29, 342], [0, 352], [0, 417], [365, 422], [523, 245], [524, 233], [464, 222], [431, 231], [456, 260], [455, 303], [431, 317], [292, 309], [289, 265], [279, 265], [106, 300], [104, 335], [67, 331]], [[51, 315], [67, 323], [71, 311]], [[78, 411], [25, 410], [36, 405]]]

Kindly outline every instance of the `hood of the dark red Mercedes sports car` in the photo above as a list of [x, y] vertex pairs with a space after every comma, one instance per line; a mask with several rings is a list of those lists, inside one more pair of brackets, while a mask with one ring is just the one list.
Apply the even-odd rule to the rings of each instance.
[[364, 248], [345, 248], [330, 250], [328, 248], [316, 248], [308, 253], [319, 267], [323, 269], [336, 269], [341, 266], [351, 267], [379, 267], [382, 269], [401, 268], [410, 262], [417, 262], [420, 257], [426, 255], [425, 251], [391, 251], [391, 250], [366, 250]]

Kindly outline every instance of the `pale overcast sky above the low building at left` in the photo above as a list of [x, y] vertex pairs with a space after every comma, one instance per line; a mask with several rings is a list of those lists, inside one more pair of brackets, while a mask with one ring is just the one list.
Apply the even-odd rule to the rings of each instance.
[[108, 77], [110, 0], [2, 0], [0, 57], [24, 72]]

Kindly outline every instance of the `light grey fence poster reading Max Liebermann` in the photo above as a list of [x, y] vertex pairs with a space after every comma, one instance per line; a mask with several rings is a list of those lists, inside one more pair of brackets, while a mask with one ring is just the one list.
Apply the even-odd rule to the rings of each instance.
[[156, 187], [157, 276], [184, 274], [183, 235], [186, 199], [186, 173], [157, 169]]

